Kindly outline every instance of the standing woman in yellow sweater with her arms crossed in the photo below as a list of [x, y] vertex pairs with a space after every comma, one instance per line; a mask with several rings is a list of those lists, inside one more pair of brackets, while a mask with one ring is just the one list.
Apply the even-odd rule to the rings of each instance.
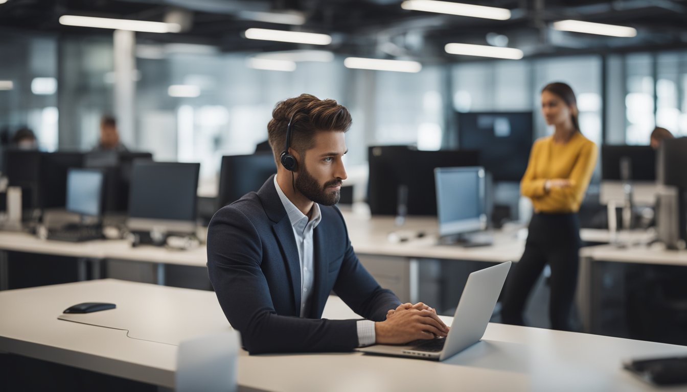
[[545, 264], [551, 267], [549, 317], [554, 330], [571, 330], [580, 249], [577, 211], [596, 165], [597, 148], [580, 132], [575, 94], [565, 83], [541, 91], [541, 112], [552, 136], [537, 139], [520, 183], [532, 200], [525, 252], [510, 274], [502, 321], [524, 325], [523, 308]]

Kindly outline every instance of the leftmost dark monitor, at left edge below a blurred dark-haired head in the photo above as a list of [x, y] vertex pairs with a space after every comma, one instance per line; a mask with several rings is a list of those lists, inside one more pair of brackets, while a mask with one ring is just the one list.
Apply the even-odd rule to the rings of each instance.
[[21, 208], [24, 211], [40, 208], [41, 152], [8, 148], [5, 150], [5, 171], [8, 185], [21, 187]]

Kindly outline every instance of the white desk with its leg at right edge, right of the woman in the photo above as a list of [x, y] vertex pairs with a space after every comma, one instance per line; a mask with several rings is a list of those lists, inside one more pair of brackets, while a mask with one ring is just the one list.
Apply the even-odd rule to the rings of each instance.
[[589, 246], [580, 251], [580, 282], [578, 287], [578, 306], [585, 331], [592, 331], [594, 325], [594, 298], [592, 296], [592, 268], [594, 262], [619, 262], [653, 264], [666, 266], [686, 266], [687, 251], [666, 250], [662, 244], [652, 246], [629, 246], [618, 248], [613, 245]]

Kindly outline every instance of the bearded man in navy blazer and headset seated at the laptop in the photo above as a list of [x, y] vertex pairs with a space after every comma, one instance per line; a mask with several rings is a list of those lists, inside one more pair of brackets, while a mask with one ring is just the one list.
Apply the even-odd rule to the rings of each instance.
[[[350, 351], [449, 330], [429, 306], [382, 289], [353, 251], [335, 207], [351, 122], [335, 100], [279, 102], [267, 125], [276, 176], [210, 222], [210, 281], [251, 354]], [[332, 290], [365, 319], [321, 319]]]

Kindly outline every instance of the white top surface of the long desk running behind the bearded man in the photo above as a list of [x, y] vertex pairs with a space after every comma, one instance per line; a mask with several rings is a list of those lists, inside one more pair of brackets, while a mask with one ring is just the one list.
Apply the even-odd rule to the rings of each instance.
[[[351, 243], [359, 255], [436, 258], [444, 260], [475, 260], [484, 262], [517, 262], [525, 249], [525, 242], [517, 231], [495, 231], [492, 246], [438, 245], [437, 224], [434, 217], [411, 217], [403, 227], [396, 227], [394, 217], [369, 218], [345, 213]], [[409, 236], [406, 242], [390, 242], [389, 234]], [[423, 233], [417, 238], [417, 233]], [[583, 229], [584, 240], [605, 242], [609, 234], [603, 230]], [[643, 238], [634, 233], [632, 238]], [[0, 249], [92, 259], [131, 260], [138, 262], [179, 264], [204, 267], [207, 262], [205, 245], [188, 251], [142, 245], [132, 248], [126, 240], [97, 240], [82, 243], [39, 240], [27, 233], [0, 232]]]

